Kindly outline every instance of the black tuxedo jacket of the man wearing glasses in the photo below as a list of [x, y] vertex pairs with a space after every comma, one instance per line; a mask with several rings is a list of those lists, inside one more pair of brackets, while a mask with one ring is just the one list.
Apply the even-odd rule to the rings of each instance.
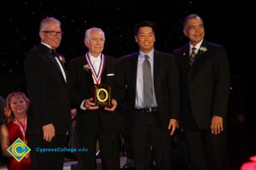
[[24, 69], [31, 101], [26, 133], [43, 134], [42, 126], [49, 123], [53, 123], [55, 134], [67, 133], [71, 121], [67, 83], [49, 48], [44, 44], [32, 48], [26, 55]]

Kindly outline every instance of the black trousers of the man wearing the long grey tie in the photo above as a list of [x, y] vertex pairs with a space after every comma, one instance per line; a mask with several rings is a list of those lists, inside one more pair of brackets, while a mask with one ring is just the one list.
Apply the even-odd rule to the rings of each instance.
[[160, 129], [154, 113], [136, 111], [131, 130], [131, 143], [137, 170], [150, 170], [152, 157], [157, 169], [171, 170], [172, 137]]

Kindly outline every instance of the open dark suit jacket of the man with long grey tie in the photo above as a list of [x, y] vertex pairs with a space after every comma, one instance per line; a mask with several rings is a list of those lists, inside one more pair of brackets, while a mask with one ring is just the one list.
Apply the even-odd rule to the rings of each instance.
[[[131, 121], [135, 111], [138, 55], [139, 52], [121, 58], [127, 90], [126, 111]], [[172, 54], [156, 50], [154, 50], [154, 94], [160, 113], [156, 114], [155, 118], [159, 126], [166, 130], [170, 118], [179, 118], [178, 71]]]

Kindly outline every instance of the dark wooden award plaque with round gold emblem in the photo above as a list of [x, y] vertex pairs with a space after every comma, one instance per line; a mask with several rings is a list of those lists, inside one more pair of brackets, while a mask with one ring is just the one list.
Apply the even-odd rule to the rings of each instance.
[[92, 90], [92, 96], [96, 105], [111, 105], [112, 94], [111, 87], [108, 84], [95, 84]]

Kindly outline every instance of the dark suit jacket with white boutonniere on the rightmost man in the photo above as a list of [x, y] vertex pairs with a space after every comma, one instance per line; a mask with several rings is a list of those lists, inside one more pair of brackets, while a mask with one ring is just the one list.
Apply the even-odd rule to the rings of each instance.
[[226, 117], [230, 91], [230, 67], [223, 46], [203, 41], [192, 66], [189, 65], [189, 44], [174, 51], [181, 73], [182, 114], [188, 101], [198, 127], [207, 129], [212, 116]]

